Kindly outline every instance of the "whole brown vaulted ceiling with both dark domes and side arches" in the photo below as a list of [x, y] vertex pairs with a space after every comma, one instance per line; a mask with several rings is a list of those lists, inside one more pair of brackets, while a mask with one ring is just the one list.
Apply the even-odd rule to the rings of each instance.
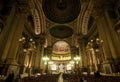
[[65, 41], [71, 48], [77, 48], [81, 37], [88, 35], [88, 29], [102, 15], [104, 5], [111, 1], [18, 0], [18, 3], [20, 9], [29, 12], [28, 22], [35, 30], [34, 35], [42, 36], [46, 47], [52, 48], [57, 41]]

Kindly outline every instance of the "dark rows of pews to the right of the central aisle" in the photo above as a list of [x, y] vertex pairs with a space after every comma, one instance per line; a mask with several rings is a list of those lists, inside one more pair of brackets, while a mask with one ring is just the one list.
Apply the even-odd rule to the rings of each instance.
[[100, 78], [94, 77], [94, 75], [75, 75], [70, 74], [68, 76], [68, 82], [80, 82], [80, 78], [85, 77], [87, 82], [120, 82], [120, 76], [101, 76]]

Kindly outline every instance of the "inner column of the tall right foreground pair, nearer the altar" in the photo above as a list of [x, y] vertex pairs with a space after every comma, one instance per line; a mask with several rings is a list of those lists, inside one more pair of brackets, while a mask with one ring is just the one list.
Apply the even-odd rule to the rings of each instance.
[[[109, 70], [111, 70], [111, 72], [112, 72], [110, 62], [113, 61], [113, 57], [112, 57], [112, 53], [111, 53], [110, 45], [109, 45], [109, 43], [111, 43], [111, 40], [109, 39], [110, 36], [109, 36], [108, 32], [106, 32], [106, 30], [105, 30], [107, 28], [107, 25], [106, 25], [104, 17], [101, 17], [97, 21], [97, 27], [98, 27], [100, 39], [102, 39], [104, 41], [104, 43], [103, 43], [103, 53], [105, 56], [104, 63], [107, 62], [109, 64], [109, 65], [107, 65], [107, 67], [109, 67]], [[108, 28], [107, 28], [107, 30], [108, 30]], [[104, 70], [105, 70], [105, 68], [104, 68]]]

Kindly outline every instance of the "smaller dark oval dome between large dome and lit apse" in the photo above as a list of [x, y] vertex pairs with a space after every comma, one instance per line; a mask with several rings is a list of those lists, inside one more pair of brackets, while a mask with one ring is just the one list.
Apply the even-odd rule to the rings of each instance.
[[73, 29], [66, 25], [56, 25], [49, 32], [53, 37], [63, 39], [72, 36]]

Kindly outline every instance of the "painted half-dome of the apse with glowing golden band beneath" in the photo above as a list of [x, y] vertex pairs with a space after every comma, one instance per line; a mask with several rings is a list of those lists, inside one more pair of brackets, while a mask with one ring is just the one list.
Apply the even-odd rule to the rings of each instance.
[[65, 41], [58, 41], [53, 45], [52, 60], [71, 60], [70, 45]]

